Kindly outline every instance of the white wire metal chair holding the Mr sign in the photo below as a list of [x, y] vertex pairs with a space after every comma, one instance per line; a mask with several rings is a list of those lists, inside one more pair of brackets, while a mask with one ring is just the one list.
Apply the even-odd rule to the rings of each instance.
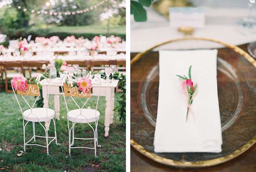
[[[42, 75], [38, 75], [38, 76], [35, 76], [35, 77], [32, 77], [32, 78], [37, 78], [40, 79], [40, 77], [43, 77], [45, 78], [44, 76]], [[29, 81], [31, 81], [31, 79]], [[38, 80], [39, 80], [38, 79]], [[20, 110], [21, 110], [21, 113], [22, 113], [22, 117], [23, 117], [23, 137], [24, 137], [24, 152], [26, 152], [26, 146], [31, 146], [31, 145], [34, 145], [34, 146], [42, 146], [44, 148], [47, 149], [47, 155], [49, 155], [49, 145], [52, 141], [55, 140], [56, 144], [57, 145], [60, 145], [57, 143], [57, 134], [56, 134], [56, 125], [55, 125], [55, 111], [53, 109], [50, 109], [48, 108], [48, 101], [49, 101], [49, 81], [47, 78], [45, 78], [46, 81], [48, 82], [48, 86], [47, 86], [47, 106], [46, 108], [44, 107], [39, 107], [39, 108], [33, 108], [35, 103], [37, 102], [39, 96], [36, 98], [35, 102], [33, 103], [32, 106], [29, 105], [29, 103], [27, 102], [27, 100], [25, 99], [25, 97], [23, 95], [21, 95], [21, 97], [24, 99], [24, 101], [27, 103], [27, 105], [30, 107], [30, 109], [27, 109], [25, 110], [24, 112], [22, 111], [22, 108], [20, 106], [20, 103], [19, 103], [19, 100], [15, 94], [15, 91], [14, 91], [14, 88], [12, 86], [12, 90], [14, 92], [14, 95], [15, 95], [15, 98], [19, 104], [19, 107], [20, 107]], [[24, 121], [27, 121], [26, 124], [24, 125]], [[53, 120], [53, 124], [54, 124], [54, 134], [55, 136], [54, 137], [49, 137], [48, 136], [48, 128], [50, 126], [50, 122], [51, 120]], [[44, 127], [44, 125], [41, 124], [41, 122], [45, 122], [45, 121], [50, 121], [49, 122], [49, 126], [47, 128]], [[25, 138], [25, 129], [26, 129], [26, 126], [29, 122], [32, 122], [33, 124], [33, 137], [26, 142], [26, 138]], [[45, 136], [37, 136], [35, 135], [35, 122], [38, 122], [42, 128], [44, 128], [45, 130]], [[29, 144], [29, 142], [34, 139], [34, 142], [35, 142], [35, 138], [36, 137], [41, 137], [41, 138], [45, 138], [46, 139], [46, 146], [45, 145], [39, 145], [39, 144]], [[49, 138], [52, 138], [51, 141], [49, 141]]]

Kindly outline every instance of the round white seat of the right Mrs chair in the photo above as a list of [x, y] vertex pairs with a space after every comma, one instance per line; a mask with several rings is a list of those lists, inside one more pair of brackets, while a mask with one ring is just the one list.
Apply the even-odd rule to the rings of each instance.
[[81, 114], [82, 115], [80, 115], [80, 109], [71, 110], [68, 112], [68, 120], [72, 122], [88, 123], [97, 121], [99, 118], [99, 111], [95, 109], [82, 109]]

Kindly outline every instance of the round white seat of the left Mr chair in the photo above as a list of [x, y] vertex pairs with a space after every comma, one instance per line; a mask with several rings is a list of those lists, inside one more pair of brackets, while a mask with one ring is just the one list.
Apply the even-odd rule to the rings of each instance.
[[55, 111], [52, 109], [47, 110], [48, 114], [46, 116], [46, 109], [44, 107], [39, 107], [39, 108], [33, 108], [32, 113], [31, 110], [25, 110], [23, 112], [23, 117], [27, 121], [31, 122], [44, 122], [52, 119], [54, 117]]

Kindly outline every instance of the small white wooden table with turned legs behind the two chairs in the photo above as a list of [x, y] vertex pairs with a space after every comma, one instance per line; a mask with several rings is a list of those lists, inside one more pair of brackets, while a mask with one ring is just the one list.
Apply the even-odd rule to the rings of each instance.
[[[57, 79], [56, 79], [57, 80]], [[55, 80], [55, 81], [56, 81]], [[100, 95], [105, 96], [106, 105], [105, 105], [105, 134], [104, 136], [107, 137], [109, 135], [109, 125], [112, 124], [114, 118], [114, 88], [117, 87], [119, 80], [114, 80], [111, 83], [103, 83], [99, 90], [99, 85], [92, 85], [93, 94], [92, 95]], [[60, 91], [60, 79], [59, 82], [54, 82], [50, 80], [49, 86], [49, 94], [54, 94], [54, 110], [55, 110], [55, 117], [57, 120], [60, 120], [60, 97], [59, 95], [63, 95], [62, 91]], [[44, 107], [47, 104], [47, 82], [41, 81], [42, 85], [42, 93], [44, 99]], [[102, 115], [102, 114], [101, 114]], [[48, 126], [49, 122], [45, 122], [45, 126]]]

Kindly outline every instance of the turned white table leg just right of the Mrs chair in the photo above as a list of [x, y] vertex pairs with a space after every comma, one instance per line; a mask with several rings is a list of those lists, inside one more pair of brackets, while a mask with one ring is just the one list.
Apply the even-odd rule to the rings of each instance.
[[111, 87], [106, 88], [106, 107], [105, 107], [105, 137], [109, 135], [109, 125], [110, 125], [110, 112], [111, 112]]

